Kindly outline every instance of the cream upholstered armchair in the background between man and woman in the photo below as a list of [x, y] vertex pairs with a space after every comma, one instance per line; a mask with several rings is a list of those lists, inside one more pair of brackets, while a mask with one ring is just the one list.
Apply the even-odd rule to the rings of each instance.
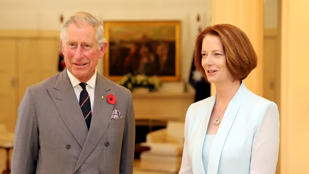
[[170, 121], [165, 129], [152, 131], [146, 135], [142, 146], [150, 150], [140, 155], [142, 170], [176, 173], [180, 170], [184, 142], [184, 123]]

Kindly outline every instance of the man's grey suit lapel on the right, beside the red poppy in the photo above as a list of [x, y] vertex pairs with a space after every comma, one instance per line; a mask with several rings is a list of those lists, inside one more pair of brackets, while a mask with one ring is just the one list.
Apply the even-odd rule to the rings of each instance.
[[[103, 77], [97, 73], [90, 129], [84, 148], [77, 161], [75, 172], [82, 166], [90, 153], [97, 146], [110, 123], [114, 105], [107, 102], [107, 95], [114, 91], [108, 86], [108, 83], [108, 81], [104, 80]], [[113, 94], [115, 95], [115, 93]], [[102, 96], [104, 96], [104, 98], [102, 98]]]

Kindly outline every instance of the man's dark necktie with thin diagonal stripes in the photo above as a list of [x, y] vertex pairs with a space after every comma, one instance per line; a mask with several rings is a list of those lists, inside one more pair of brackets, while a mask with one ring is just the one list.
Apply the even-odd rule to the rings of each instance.
[[88, 130], [90, 128], [90, 122], [91, 122], [91, 105], [90, 105], [90, 97], [86, 90], [86, 83], [80, 83], [80, 86], [83, 88], [80, 94], [80, 106], [84, 114], [84, 119], [86, 121]]

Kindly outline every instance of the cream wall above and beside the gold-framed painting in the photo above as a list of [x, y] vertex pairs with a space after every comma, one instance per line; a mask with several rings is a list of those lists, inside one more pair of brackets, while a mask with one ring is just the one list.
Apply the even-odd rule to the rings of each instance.
[[[88, 11], [102, 20], [180, 20], [181, 78], [188, 81], [197, 13], [201, 24], [211, 24], [211, 0], [0, 0], [0, 30], [59, 30], [60, 14], [66, 20], [77, 11]], [[97, 69], [103, 72], [103, 61]]]

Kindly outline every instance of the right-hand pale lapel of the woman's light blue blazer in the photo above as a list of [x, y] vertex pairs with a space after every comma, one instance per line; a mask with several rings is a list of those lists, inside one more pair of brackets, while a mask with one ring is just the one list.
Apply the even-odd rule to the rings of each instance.
[[226, 108], [224, 117], [222, 119], [219, 130], [217, 131], [216, 138], [213, 142], [210, 155], [209, 155], [209, 163], [208, 163], [208, 172], [209, 174], [217, 174], [219, 168], [219, 162], [221, 157], [222, 148], [228, 132], [233, 125], [237, 112], [239, 110], [240, 105], [234, 99], [229, 103]]

